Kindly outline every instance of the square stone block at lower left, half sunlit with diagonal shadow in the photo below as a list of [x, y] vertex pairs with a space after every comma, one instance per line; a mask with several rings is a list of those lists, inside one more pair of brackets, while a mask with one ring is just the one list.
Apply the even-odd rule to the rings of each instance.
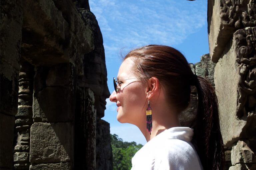
[[34, 123], [31, 126], [31, 164], [73, 160], [71, 123]]

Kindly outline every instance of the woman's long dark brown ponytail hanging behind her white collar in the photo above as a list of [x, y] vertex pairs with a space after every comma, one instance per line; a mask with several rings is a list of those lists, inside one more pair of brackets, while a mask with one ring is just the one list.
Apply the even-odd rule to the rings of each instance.
[[198, 107], [192, 143], [196, 145], [205, 170], [222, 170], [224, 148], [215, 89], [200, 76], [197, 77], [195, 86], [198, 94]]

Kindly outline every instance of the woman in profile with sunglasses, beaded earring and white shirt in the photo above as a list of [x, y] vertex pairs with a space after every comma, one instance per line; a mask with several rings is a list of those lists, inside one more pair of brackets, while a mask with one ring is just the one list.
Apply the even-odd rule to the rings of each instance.
[[[195, 127], [181, 127], [179, 114], [198, 92]], [[211, 84], [193, 74], [186, 58], [165, 45], [130, 51], [119, 68], [115, 91], [117, 120], [136, 125], [147, 143], [132, 158], [132, 170], [221, 170], [223, 141], [218, 101]]]

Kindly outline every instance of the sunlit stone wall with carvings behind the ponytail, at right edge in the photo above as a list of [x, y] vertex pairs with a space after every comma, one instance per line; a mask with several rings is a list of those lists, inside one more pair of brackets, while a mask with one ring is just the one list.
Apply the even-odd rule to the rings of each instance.
[[208, 0], [226, 169], [256, 169], [256, 1]]

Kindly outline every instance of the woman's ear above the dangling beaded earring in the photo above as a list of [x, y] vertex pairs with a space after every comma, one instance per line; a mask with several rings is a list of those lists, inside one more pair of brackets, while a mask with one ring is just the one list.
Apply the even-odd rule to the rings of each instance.
[[147, 93], [147, 96], [148, 96], [148, 99], [152, 99], [153, 97], [156, 97], [160, 94], [160, 81], [158, 78], [156, 77], [151, 77], [149, 80], [148, 80], [148, 87], [147, 87], [147, 90], [146, 90], [146, 93]]

